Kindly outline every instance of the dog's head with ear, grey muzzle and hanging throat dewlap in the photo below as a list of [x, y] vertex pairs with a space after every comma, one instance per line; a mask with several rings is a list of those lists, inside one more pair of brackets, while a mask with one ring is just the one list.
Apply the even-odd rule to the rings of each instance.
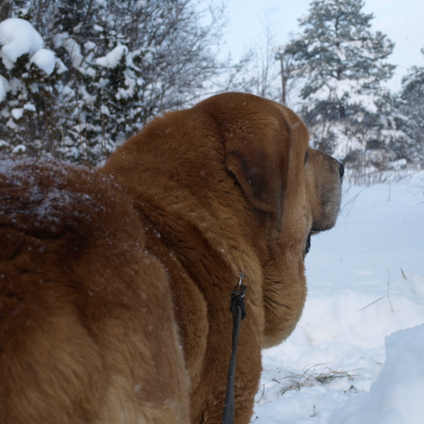
[[273, 346], [293, 331], [302, 312], [310, 236], [336, 223], [343, 165], [308, 146], [305, 124], [287, 107], [242, 93], [216, 95], [200, 105], [224, 140], [228, 172], [269, 223], [262, 233], [262, 346]]

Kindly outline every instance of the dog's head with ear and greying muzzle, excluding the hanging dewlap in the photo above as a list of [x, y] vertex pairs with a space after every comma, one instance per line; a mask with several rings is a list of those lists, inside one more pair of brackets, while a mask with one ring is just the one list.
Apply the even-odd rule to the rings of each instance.
[[308, 146], [307, 128], [293, 111], [243, 93], [216, 95], [200, 105], [210, 110], [224, 139], [228, 172], [253, 206], [272, 214], [277, 232], [292, 232], [295, 225], [306, 245], [308, 235], [334, 227], [343, 165]]

